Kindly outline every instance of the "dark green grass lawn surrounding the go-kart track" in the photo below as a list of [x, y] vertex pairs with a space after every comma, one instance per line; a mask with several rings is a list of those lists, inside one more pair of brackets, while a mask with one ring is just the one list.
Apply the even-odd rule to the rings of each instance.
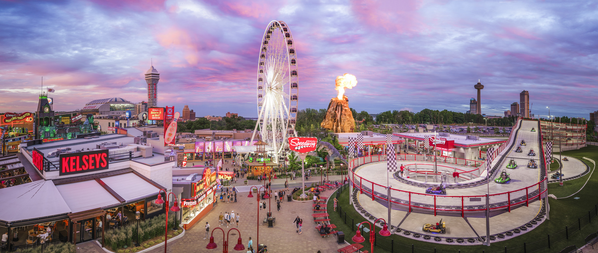
[[[598, 161], [598, 146], [588, 146], [579, 150], [571, 150], [563, 152], [563, 156], [575, 157], [582, 159], [587, 157]], [[593, 169], [593, 163], [582, 159], [585, 163], [590, 165]], [[558, 163], [556, 163], [558, 164]], [[556, 165], [558, 168], [558, 165]], [[550, 177], [550, 175], [548, 175]], [[557, 197], [566, 197], [577, 192], [590, 177], [590, 173], [581, 178], [575, 180], [565, 181], [565, 186], [559, 186], [559, 183], [548, 184], [548, 193], [554, 194]], [[559, 252], [563, 248], [569, 245], [576, 245], [581, 247], [585, 244], [584, 238], [590, 233], [596, 232], [598, 228], [598, 217], [596, 217], [596, 204], [598, 203], [598, 173], [592, 174], [590, 180], [585, 187], [575, 195], [565, 199], [552, 199], [548, 198], [550, 204], [550, 220], [544, 221], [539, 227], [536, 227], [532, 231], [514, 237], [503, 242], [492, 243], [491, 246], [483, 245], [443, 245], [431, 242], [422, 242], [420, 240], [409, 239], [398, 235], [392, 235], [389, 237], [380, 236], [377, 234], [376, 241], [377, 246], [374, 247], [376, 252], [391, 252], [390, 244], [391, 239], [393, 240], [394, 250], [393, 252], [412, 252], [411, 247], [413, 246], [413, 252], [476, 252], [476, 253], [493, 253], [493, 252], [507, 252], [517, 253], [524, 252], [523, 246], [526, 243], [526, 252]], [[579, 199], [573, 199], [579, 197]], [[332, 206], [332, 199], [329, 199], [329, 206]], [[331, 223], [337, 226], [338, 231], [344, 232], [345, 240], [352, 242], [351, 238], [355, 235], [352, 231], [356, 228], [356, 223], [366, 221], [365, 218], [350, 205], [350, 193], [349, 187], [347, 187], [340, 194], [338, 199], [338, 205], [342, 208], [343, 213], [333, 212], [330, 215]], [[588, 212], [591, 211], [591, 212]], [[346, 212], [346, 224], [345, 224], [345, 213]], [[591, 216], [591, 222], [589, 221], [588, 214]], [[351, 218], [355, 220], [352, 222]], [[578, 220], [579, 218], [579, 220]], [[578, 221], [581, 221], [581, 230], [579, 230]], [[393, 223], [397, 224], [398, 221], [393, 219]], [[422, 221], [422, 225], [425, 221]], [[590, 224], [587, 224], [590, 223]], [[585, 225], [584, 225], [585, 224]], [[450, 226], [450, 225], [449, 225]], [[568, 226], [569, 239], [566, 239], [565, 226]], [[366, 226], [367, 227], [367, 226]], [[379, 232], [380, 228], [376, 227], [376, 233]], [[478, 232], [480, 233], [480, 232]], [[484, 232], [481, 232], [484, 233]], [[550, 249], [548, 246], [548, 235], [550, 235]], [[364, 250], [370, 250], [370, 243], [368, 235], [364, 236], [366, 241], [361, 243], [364, 245]], [[436, 249], [436, 251], [435, 251]]]

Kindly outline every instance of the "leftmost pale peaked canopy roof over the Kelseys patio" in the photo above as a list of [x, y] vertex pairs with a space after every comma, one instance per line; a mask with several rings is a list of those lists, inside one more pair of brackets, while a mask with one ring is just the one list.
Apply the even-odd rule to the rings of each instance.
[[40, 180], [2, 189], [0, 220], [6, 222], [30, 220], [68, 214], [67, 205], [51, 180]]

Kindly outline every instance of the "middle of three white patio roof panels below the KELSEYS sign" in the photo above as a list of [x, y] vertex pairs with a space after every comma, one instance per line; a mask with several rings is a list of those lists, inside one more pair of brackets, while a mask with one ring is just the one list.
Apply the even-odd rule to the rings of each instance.
[[87, 211], [120, 203], [96, 180], [59, 184], [56, 188], [72, 212]]

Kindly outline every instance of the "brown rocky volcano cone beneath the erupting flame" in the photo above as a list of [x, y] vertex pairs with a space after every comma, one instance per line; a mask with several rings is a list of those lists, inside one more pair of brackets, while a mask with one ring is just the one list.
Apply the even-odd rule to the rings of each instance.
[[353, 119], [353, 113], [349, 109], [349, 98], [347, 96], [343, 95], [342, 100], [336, 97], [330, 100], [326, 116], [320, 126], [334, 132], [355, 131], [355, 119]]

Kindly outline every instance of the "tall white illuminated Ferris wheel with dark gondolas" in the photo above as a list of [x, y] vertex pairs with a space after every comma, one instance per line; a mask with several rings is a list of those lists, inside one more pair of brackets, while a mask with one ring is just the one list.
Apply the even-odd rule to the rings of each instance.
[[298, 82], [297, 52], [291, 30], [283, 21], [271, 21], [258, 57], [258, 120], [252, 140], [259, 129], [262, 141], [274, 149], [276, 163], [288, 149], [288, 137], [297, 136]]

